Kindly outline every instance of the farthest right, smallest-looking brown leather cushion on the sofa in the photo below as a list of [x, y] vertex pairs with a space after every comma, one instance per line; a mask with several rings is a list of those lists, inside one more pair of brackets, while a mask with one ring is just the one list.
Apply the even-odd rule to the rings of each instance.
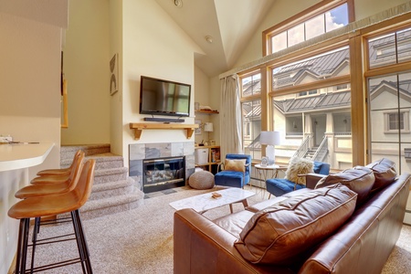
[[375, 182], [372, 190], [385, 187], [395, 181], [395, 163], [389, 159], [383, 158], [367, 164], [366, 167], [370, 168], [374, 172]]

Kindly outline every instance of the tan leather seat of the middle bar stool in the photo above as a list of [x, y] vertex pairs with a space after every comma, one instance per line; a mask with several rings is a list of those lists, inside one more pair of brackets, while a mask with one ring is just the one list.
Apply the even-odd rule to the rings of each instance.
[[[71, 191], [76, 187], [76, 184], [79, 181], [79, 174], [81, 172], [81, 166], [84, 161], [84, 153], [79, 152], [79, 155], [74, 158], [73, 163], [71, 164], [72, 168], [68, 174], [68, 178], [65, 181], [60, 182], [59, 180], [54, 180], [51, 176], [44, 176], [43, 184], [32, 184], [27, 185], [19, 189], [15, 196], [19, 199], [26, 199], [29, 197], [42, 196], [42, 195], [53, 195], [53, 194], [62, 194], [68, 191]], [[47, 183], [46, 179], [53, 182]]]

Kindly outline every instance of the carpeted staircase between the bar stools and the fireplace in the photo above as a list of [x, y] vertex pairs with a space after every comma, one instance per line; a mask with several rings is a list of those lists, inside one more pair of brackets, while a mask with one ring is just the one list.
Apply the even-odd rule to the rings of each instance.
[[144, 194], [140, 184], [129, 177], [122, 156], [111, 153], [110, 144], [62, 146], [61, 168], [71, 164], [78, 150], [86, 153], [86, 160], [96, 160], [91, 195], [80, 208], [82, 219], [115, 214], [142, 205]]

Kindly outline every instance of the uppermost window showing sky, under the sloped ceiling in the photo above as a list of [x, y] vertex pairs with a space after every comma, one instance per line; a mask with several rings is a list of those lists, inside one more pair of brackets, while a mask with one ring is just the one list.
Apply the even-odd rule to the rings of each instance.
[[312, 37], [346, 26], [349, 23], [351, 1], [328, 1], [329, 5], [319, 5], [296, 16], [290, 22], [273, 26], [264, 31], [268, 39], [267, 54], [294, 46]]

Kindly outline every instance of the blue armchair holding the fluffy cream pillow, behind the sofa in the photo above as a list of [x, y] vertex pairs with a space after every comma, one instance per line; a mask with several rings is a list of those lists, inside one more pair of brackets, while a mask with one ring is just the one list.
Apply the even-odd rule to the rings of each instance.
[[[328, 175], [330, 174], [330, 164], [314, 161], [313, 171], [314, 174]], [[275, 195], [278, 197], [290, 193], [291, 191], [305, 188], [306, 186], [303, 184], [296, 184], [287, 179], [273, 178], [266, 181], [266, 187], [269, 196]]]

